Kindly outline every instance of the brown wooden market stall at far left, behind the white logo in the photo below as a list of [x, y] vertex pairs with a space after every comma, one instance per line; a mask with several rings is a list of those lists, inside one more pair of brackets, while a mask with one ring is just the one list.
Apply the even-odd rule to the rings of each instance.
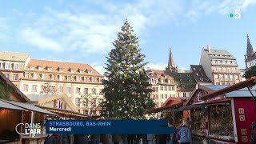
[[[0, 143], [43, 143], [46, 134], [22, 134], [19, 123], [43, 123], [45, 115], [56, 115], [30, 104], [30, 99], [0, 72]], [[17, 126], [17, 131], [16, 131]]]

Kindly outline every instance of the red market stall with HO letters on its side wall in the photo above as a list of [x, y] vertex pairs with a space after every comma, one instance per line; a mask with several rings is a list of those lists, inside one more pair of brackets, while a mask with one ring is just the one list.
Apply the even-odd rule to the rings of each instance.
[[[250, 82], [250, 81], [246, 81]], [[246, 82], [233, 86], [198, 85], [186, 105], [190, 110], [193, 143], [249, 143], [250, 126], [256, 121], [256, 104]]]

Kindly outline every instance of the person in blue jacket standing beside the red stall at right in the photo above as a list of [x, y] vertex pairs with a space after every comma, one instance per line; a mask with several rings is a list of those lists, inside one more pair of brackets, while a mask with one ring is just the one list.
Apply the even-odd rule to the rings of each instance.
[[192, 130], [190, 122], [185, 121], [180, 130], [178, 130], [179, 142], [181, 144], [192, 144]]

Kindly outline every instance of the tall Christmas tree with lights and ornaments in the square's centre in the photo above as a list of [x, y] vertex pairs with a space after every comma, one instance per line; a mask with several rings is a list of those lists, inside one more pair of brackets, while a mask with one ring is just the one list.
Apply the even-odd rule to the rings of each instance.
[[145, 55], [138, 48], [138, 38], [126, 20], [108, 55], [101, 114], [109, 118], [144, 118], [143, 112], [154, 108], [150, 98]]

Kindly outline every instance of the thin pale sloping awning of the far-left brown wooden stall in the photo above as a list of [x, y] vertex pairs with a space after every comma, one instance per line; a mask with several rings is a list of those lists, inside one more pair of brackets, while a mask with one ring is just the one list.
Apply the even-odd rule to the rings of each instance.
[[42, 113], [42, 114], [49, 114], [49, 115], [57, 115], [57, 114], [54, 114], [54, 113], [51, 113], [50, 111], [47, 111], [47, 110], [43, 110], [37, 106], [34, 106], [34, 105], [31, 105], [29, 103], [22, 103], [22, 102], [14, 102], [14, 101], [6, 101], [6, 100], [1, 100], [2, 102], [8, 102], [14, 106], [18, 106], [18, 107], [21, 107], [23, 109], [26, 109], [26, 110], [31, 110], [31, 111], [35, 111], [35, 112], [39, 112], [39, 113]]

